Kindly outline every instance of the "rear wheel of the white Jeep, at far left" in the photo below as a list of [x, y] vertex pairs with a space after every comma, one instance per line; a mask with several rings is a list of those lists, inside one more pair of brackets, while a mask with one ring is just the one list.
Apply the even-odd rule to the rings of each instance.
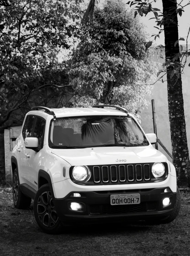
[[13, 195], [14, 207], [17, 209], [27, 209], [28, 207], [30, 207], [32, 199], [25, 196], [20, 189], [19, 173], [17, 168], [15, 168], [13, 172], [12, 184], [13, 184], [12, 195]]

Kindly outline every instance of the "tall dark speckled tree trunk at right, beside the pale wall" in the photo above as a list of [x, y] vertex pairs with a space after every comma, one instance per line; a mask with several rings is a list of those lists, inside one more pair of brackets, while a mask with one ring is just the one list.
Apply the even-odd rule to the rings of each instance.
[[[175, 0], [162, 0], [163, 14], [165, 18], [164, 33], [165, 33], [165, 54], [166, 60], [172, 60], [175, 54], [179, 54], [179, 44], [174, 46], [178, 38], [178, 20], [177, 13], [171, 7], [176, 7]], [[170, 20], [167, 21], [168, 16]], [[179, 61], [179, 60], [177, 60]], [[183, 108], [183, 94], [182, 94], [182, 81], [181, 74], [177, 77], [176, 74], [170, 78], [173, 67], [167, 68], [167, 83], [168, 83], [168, 108], [169, 108], [169, 121], [170, 133], [172, 144], [173, 165], [178, 174], [178, 186], [190, 187], [190, 162], [189, 150], [187, 145], [186, 135], [186, 122]], [[179, 70], [180, 72], [180, 70]]]

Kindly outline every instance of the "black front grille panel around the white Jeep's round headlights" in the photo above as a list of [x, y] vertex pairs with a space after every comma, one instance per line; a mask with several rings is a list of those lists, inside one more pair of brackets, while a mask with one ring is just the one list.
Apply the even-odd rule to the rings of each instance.
[[154, 163], [135, 163], [125, 164], [121, 161], [120, 164], [106, 164], [106, 165], [88, 165], [86, 166], [89, 171], [88, 179], [83, 182], [76, 181], [72, 176], [74, 166], [70, 167], [71, 180], [80, 185], [122, 185], [122, 184], [138, 184], [161, 182], [168, 177], [168, 164], [163, 162], [165, 166], [165, 174], [156, 179], [152, 172], [152, 165]]

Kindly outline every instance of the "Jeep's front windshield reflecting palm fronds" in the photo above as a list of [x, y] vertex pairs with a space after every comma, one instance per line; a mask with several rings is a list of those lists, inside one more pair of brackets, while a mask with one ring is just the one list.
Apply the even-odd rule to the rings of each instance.
[[66, 117], [57, 118], [50, 125], [49, 146], [52, 148], [147, 145], [145, 135], [131, 117]]

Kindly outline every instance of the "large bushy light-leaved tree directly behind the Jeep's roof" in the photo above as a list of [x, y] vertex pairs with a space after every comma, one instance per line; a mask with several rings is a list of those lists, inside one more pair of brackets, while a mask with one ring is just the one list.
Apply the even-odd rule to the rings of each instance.
[[139, 117], [148, 102], [157, 67], [156, 51], [146, 49], [147, 39], [140, 19], [133, 19], [122, 0], [108, 0], [96, 8], [92, 26], [82, 30], [81, 42], [73, 53], [70, 84], [74, 106], [116, 104]]

